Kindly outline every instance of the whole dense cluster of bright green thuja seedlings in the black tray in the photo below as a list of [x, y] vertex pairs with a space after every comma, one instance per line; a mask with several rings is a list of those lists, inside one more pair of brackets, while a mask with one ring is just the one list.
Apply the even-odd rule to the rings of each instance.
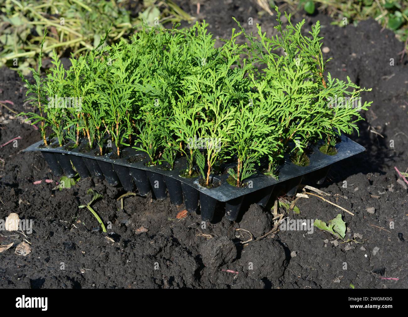
[[[358, 131], [359, 111], [371, 104], [360, 101], [370, 89], [326, 75], [319, 22], [304, 35], [305, 22], [286, 17], [284, 28], [277, 11], [273, 38], [259, 26], [257, 35], [248, 34], [238, 23], [240, 32], [233, 29], [218, 48], [206, 24], [196, 23], [146, 27], [131, 43], [110, 47], [101, 41], [71, 58], [67, 71], [55, 55], [45, 78], [33, 71], [35, 83], [25, 81], [35, 110], [24, 114], [40, 123], [44, 146], [51, 127], [60, 145], [95, 155], [106, 155], [110, 140], [114, 159], [123, 146], [146, 153], [148, 166], [173, 169], [183, 157], [180, 175], [199, 175], [205, 187], [217, 173], [229, 173], [235, 187], [256, 173], [279, 177], [282, 158], [307, 165], [308, 148], [320, 140], [323, 153], [335, 154], [337, 138]], [[248, 44], [236, 43], [240, 35]], [[58, 94], [81, 98], [80, 109], [47, 107], [49, 95]], [[233, 166], [223, 171], [224, 163]]]

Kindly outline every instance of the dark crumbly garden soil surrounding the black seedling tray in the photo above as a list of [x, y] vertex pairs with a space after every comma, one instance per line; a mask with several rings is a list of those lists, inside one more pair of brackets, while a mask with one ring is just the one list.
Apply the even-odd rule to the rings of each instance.
[[[196, 15], [196, 5], [177, 3]], [[260, 23], [273, 33], [275, 17], [259, 18], [253, 2], [200, 3], [199, 18], [205, 18], [220, 38], [235, 27], [230, 16], [249, 31]], [[254, 25], [248, 26], [250, 17]], [[407, 189], [397, 182], [394, 169], [408, 168], [408, 65], [406, 55], [401, 60], [403, 44], [374, 20], [338, 28], [327, 16], [317, 15], [306, 17], [305, 31], [316, 20], [322, 24], [324, 46], [330, 48], [326, 55], [334, 58], [328, 64], [332, 76], [346, 80], [348, 75], [372, 87], [362, 97], [374, 102], [364, 113], [366, 121], [359, 122], [360, 134], [351, 136], [366, 152], [335, 164], [319, 186], [330, 193], [330, 201], [355, 215], [310, 196], [297, 200], [300, 214], [288, 216], [327, 222], [341, 213], [346, 239], [364, 244], [341, 244], [329, 233], [314, 230], [281, 231], [242, 247], [239, 242], [248, 240], [248, 234], [235, 229], [261, 237], [271, 229], [270, 208], [246, 206], [238, 222], [231, 223], [220, 206], [213, 223], [204, 226], [200, 215], [176, 219], [180, 210], [169, 199], [156, 201], [151, 195], [125, 197], [121, 210], [116, 199], [123, 189], [97, 179], [54, 190], [59, 179], [40, 153], [21, 153], [40, 140], [39, 131], [0, 108], [0, 144], [21, 137], [17, 147], [12, 142], [0, 148], [0, 219], [14, 212], [20, 219], [33, 220], [33, 233], [26, 238], [32, 251], [25, 257], [14, 253], [25, 238], [21, 233], [0, 233], [0, 244], [15, 243], [0, 253], [0, 288], [349, 288], [350, 283], [356, 288], [407, 288]], [[14, 102], [15, 111], [28, 111], [24, 92], [17, 73], [0, 70], [0, 100]], [[37, 180], [42, 182], [33, 184]], [[93, 208], [107, 225], [107, 234], [86, 208], [78, 208], [91, 199], [89, 188], [104, 196]], [[374, 213], [368, 213], [370, 207]]]

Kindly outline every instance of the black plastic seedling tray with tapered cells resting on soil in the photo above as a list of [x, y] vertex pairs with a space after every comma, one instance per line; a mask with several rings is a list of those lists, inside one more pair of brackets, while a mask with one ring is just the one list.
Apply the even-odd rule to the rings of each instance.
[[146, 159], [128, 162], [131, 157], [143, 157], [142, 153], [130, 147], [122, 150], [122, 153], [126, 153], [124, 157], [114, 160], [110, 158], [110, 154], [94, 155], [95, 149], [80, 153], [78, 148], [72, 150], [65, 150], [64, 146], [42, 148], [41, 144], [42, 141], [38, 141], [25, 149], [24, 152], [41, 151], [55, 176], [65, 174], [68, 177], [73, 177], [76, 174], [72, 168], [73, 165], [83, 178], [90, 175], [105, 178], [109, 185], [121, 185], [126, 191], [134, 191], [137, 188], [140, 195], [147, 195], [152, 190], [157, 199], [164, 199], [167, 197], [167, 189], [171, 202], [175, 205], [184, 202], [188, 212], [198, 213], [200, 201], [203, 221], [213, 219], [217, 202], [225, 202], [226, 218], [233, 221], [237, 219], [244, 197], [249, 197], [264, 207], [268, 203], [276, 184], [282, 185], [286, 195], [289, 196], [296, 194], [304, 176], [311, 177], [318, 184], [321, 184], [333, 163], [365, 150], [363, 146], [342, 135], [341, 142], [335, 146], [336, 155], [321, 153], [318, 149], [319, 144], [317, 144], [308, 155], [310, 158], [308, 166], [297, 166], [286, 157], [284, 164], [279, 167], [278, 180], [258, 173], [245, 180], [247, 183], [245, 187], [237, 188], [228, 184], [228, 173], [224, 173], [223, 175], [211, 175], [213, 182], [219, 182], [220, 186], [205, 188], [199, 184], [198, 177], [183, 178], [179, 176], [180, 171], [185, 169], [185, 159], [177, 161], [176, 168], [173, 171], [168, 171], [163, 169], [162, 165], [145, 166]]

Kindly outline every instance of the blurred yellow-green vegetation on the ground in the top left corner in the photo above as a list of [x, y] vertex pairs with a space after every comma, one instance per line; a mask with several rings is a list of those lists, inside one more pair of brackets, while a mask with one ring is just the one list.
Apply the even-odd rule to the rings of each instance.
[[55, 50], [79, 55], [98, 45], [128, 38], [142, 22], [161, 25], [193, 18], [171, 0], [2, 0], [0, 67], [28, 73], [37, 63], [44, 29], [44, 55]]

